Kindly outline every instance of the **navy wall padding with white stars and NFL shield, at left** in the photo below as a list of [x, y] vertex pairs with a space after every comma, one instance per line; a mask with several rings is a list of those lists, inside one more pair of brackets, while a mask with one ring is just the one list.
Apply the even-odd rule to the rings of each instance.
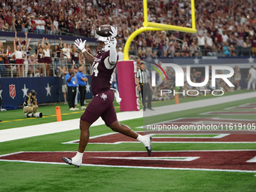
[[[93, 98], [90, 87], [91, 76], [87, 75], [89, 85], [87, 86], [86, 99]], [[30, 90], [37, 93], [38, 103], [63, 102], [62, 79], [57, 77], [41, 78], [1, 78], [0, 96], [2, 105], [23, 105], [26, 94]], [[69, 99], [67, 94], [67, 99]], [[78, 95], [79, 99], [79, 95]]]

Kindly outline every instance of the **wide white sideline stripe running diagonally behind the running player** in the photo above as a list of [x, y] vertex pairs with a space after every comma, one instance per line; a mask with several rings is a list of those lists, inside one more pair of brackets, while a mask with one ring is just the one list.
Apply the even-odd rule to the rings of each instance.
[[[126, 111], [117, 113], [117, 119], [122, 120], [131, 120], [136, 119], [140, 117], [149, 117], [157, 114], [166, 114], [171, 113], [175, 111], [184, 111], [187, 109], [193, 109], [193, 108], [202, 108], [207, 107], [211, 105], [218, 105], [221, 103], [226, 102], [234, 102], [242, 99], [250, 99], [255, 98], [256, 99], [256, 92], [253, 93], [242, 93], [242, 94], [236, 94], [233, 96], [216, 96], [216, 98], [213, 99], [203, 99], [200, 101], [194, 101], [194, 102], [185, 102], [178, 105], [168, 105], [163, 107], [154, 108], [155, 111]], [[96, 120], [95, 123], [93, 123], [93, 126], [102, 125], [104, 124], [104, 121], [99, 118]], [[34, 126], [23, 126], [8, 130], [0, 130], [0, 142], [8, 142], [16, 139], [24, 139], [32, 136], [43, 136], [51, 133], [60, 133], [65, 132], [69, 130], [76, 130], [79, 129], [79, 119], [73, 119], [73, 120], [63, 120], [59, 122], [53, 122], [53, 123], [44, 123], [40, 125], [34, 125]]]

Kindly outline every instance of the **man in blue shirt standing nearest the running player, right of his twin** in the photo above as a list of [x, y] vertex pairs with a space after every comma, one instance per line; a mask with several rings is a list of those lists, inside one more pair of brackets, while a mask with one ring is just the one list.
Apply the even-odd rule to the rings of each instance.
[[83, 73], [83, 66], [78, 67], [78, 73], [77, 73], [78, 88], [79, 88], [79, 92], [80, 92], [81, 110], [86, 108], [84, 106], [84, 99], [85, 99], [85, 95], [87, 93], [87, 90], [86, 90], [86, 84], [87, 83], [86, 83], [86, 81], [88, 81], [87, 76], [85, 76], [84, 73]]

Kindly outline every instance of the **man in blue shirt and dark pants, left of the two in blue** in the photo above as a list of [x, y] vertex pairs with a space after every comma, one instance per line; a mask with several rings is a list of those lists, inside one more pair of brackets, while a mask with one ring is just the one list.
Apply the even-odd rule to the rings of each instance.
[[75, 95], [77, 94], [78, 85], [75, 81], [75, 74], [71, 68], [69, 68], [69, 73], [65, 76], [65, 79], [68, 86], [69, 110], [78, 110], [79, 108], [75, 108]]

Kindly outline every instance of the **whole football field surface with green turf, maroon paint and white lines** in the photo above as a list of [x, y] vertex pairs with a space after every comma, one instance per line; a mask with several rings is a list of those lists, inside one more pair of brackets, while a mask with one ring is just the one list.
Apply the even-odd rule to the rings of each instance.
[[[174, 123], [199, 118], [203, 118], [204, 123], [218, 122], [219, 119], [255, 121], [255, 92], [219, 97], [221, 101], [216, 103], [212, 102], [212, 98], [181, 99], [181, 105], [185, 102], [187, 104], [183, 105], [187, 108], [177, 109], [174, 108], [178, 105], [172, 106], [173, 101], [166, 102], [165, 105], [168, 103], [168, 107], [174, 111], [159, 114], [157, 118], [159, 122], [171, 120]], [[197, 101], [204, 101], [204, 106], [192, 105], [200, 103]], [[157, 111], [166, 108], [165, 105], [154, 102], [153, 107]], [[39, 123], [35, 118], [15, 121], [25, 118], [20, 114], [21, 110], [5, 111], [2, 117], [8, 116], [8, 120], [0, 124], [3, 124], [0, 127], [0, 174], [3, 175], [0, 191], [254, 191], [256, 188], [254, 134], [162, 133], [154, 135], [153, 152], [148, 157], [139, 142], [112, 133], [99, 121], [90, 129], [84, 166], [78, 169], [68, 166], [62, 163], [61, 157], [72, 157], [77, 151], [75, 141], [79, 138], [78, 118], [82, 111], [73, 114], [63, 107], [65, 105], [61, 105], [64, 114], [62, 122], [56, 123], [53, 123], [56, 117], [51, 116], [55, 112], [55, 105], [41, 107], [48, 116], [41, 118]], [[229, 111], [236, 113], [228, 114]], [[248, 114], [241, 115], [241, 111], [248, 111]], [[9, 117], [7, 114], [11, 113], [17, 116]], [[142, 111], [118, 115], [122, 123], [133, 130], [142, 131], [139, 129], [143, 125]], [[17, 126], [14, 122], [17, 122]], [[24, 129], [30, 129], [29, 134], [32, 135], [28, 137]], [[17, 130], [23, 130], [25, 134]], [[8, 139], [7, 135], [2, 134], [7, 131], [14, 131], [16, 136]]]

